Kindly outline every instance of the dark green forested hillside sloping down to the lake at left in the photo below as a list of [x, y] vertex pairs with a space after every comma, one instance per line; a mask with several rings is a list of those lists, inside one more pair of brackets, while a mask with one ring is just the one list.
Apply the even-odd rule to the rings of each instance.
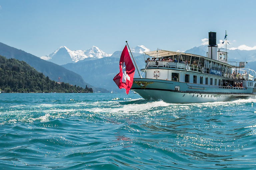
[[68, 83], [57, 83], [39, 73], [25, 61], [0, 56], [0, 89], [4, 92], [65, 92], [92, 93], [92, 88], [82, 88]]

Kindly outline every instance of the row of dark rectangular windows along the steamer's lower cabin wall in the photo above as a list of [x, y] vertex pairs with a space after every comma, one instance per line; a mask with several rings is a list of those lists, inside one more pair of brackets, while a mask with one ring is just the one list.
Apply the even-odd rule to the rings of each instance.
[[[172, 80], [173, 81], [179, 81], [179, 73], [172, 73]], [[216, 78], [214, 79], [214, 85], [220, 86], [221, 80], [217, 80]], [[189, 82], [189, 74], [185, 74], [185, 83], [190, 83]], [[193, 83], [197, 83], [197, 76], [193, 75]], [[203, 76], [199, 77], [199, 83], [203, 84]], [[205, 84], [208, 84], [208, 77], [205, 77]], [[213, 78], [210, 78], [210, 85], [213, 85]]]

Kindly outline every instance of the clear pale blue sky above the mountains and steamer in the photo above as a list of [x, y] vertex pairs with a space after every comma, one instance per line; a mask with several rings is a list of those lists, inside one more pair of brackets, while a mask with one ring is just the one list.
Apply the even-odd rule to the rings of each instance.
[[0, 0], [0, 42], [41, 57], [60, 46], [104, 52], [145, 45], [185, 51], [208, 32], [256, 49], [256, 1]]

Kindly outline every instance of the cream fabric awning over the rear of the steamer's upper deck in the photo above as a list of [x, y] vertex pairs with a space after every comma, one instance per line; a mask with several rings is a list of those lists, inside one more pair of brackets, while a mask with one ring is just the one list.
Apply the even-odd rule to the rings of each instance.
[[187, 56], [196, 56], [196, 57], [203, 57], [200, 55], [195, 55], [195, 54], [189, 54], [189, 53], [183, 53], [183, 52], [175, 52], [175, 51], [166, 51], [166, 50], [156, 50], [156, 51], [149, 51], [149, 52], [144, 52], [146, 55], [151, 56], [151, 57], [168, 57], [168, 56], [173, 56], [173, 55], [187, 55]]

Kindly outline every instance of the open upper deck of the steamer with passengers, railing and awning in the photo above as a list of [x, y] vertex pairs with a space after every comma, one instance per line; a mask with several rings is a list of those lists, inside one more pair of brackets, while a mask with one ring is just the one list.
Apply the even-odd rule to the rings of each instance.
[[[155, 68], [155, 67], [165, 67], [170, 69], [183, 69], [186, 71], [200, 72], [206, 74], [218, 75], [226, 78], [234, 78], [234, 79], [253, 79], [256, 76], [255, 71], [252, 70], [253, 76], [242, 75], [237, 71], [237, 68], [244, 68], [244, 66], [240, 67], [233, 66], [222, 62], [222, 60], [227, 59], [227, 53], [223, 51], [217, 51], [219, 61], [214, 60], [208, 57], [182, 53], [182, 52], [174, 52], [174, 51], [166, 51], [166, 50], [156, 50], [145, 52], [147, 58], [145, 60], [146, 66], [145, 68]], [[149, 56], [149, 57], [147, 57]], [[236, 70], [236, 71], [234, 71]], [[249, 70], [249, 69], [248, 69]], [[254, 74], [255, 73], [255, 74]], [[247, 77], [246, 77], [247, 76]]]

